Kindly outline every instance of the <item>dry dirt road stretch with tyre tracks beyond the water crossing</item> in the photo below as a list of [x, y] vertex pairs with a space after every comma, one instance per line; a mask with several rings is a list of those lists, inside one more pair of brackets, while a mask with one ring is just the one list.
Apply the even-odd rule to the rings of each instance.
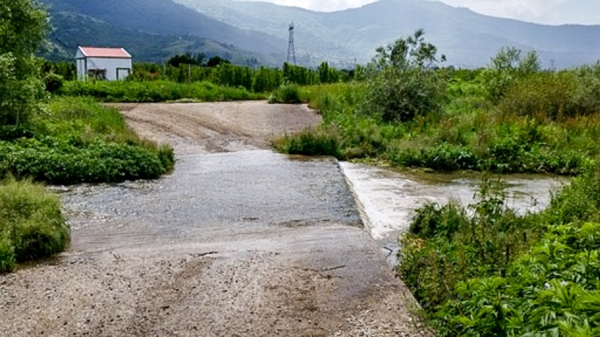
[[321, 121], [306, 106], [263, 101], [118, 107], [140, 136], [169, 143], [178, 155], [267, 149], [272, 137]]

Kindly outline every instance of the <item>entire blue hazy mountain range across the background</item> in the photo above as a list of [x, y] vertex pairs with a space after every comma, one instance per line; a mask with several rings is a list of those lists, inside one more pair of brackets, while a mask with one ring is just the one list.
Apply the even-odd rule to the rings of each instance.
[[338, 67], [365, 63], [374, 50], [416, 29], [448, 58], [446, 65], [481, 67], [504, 46], [536, 50], [543, 67], [600, 59], [600, 26], [548, 26], [477, 14], [428, 0], [380, 0], [320, 13], [267, 2], [234, 0], [44, 0], [56, 31], [53, 57], [77, 44], [126, 47], [144, 61], [205, 52], [238, 63], [281, 64], [288, 25], [295, 25], [299, 62]]

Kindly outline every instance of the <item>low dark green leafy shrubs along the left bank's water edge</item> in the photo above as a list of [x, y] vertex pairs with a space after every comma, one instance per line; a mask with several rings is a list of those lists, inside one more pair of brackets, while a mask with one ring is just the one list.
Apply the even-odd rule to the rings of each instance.
[[0, 142], [0, 168], [18, 178], [53, 184], [154, 179], [173, 166], [170, 148], [46, 137]]

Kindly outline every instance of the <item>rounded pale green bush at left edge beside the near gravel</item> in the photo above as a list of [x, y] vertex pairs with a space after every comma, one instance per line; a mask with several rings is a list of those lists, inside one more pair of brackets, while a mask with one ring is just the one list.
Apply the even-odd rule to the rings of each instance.
[[26, 181], [0, 184], [0, 272], [64, 251], [69, 240], [56, 195]]

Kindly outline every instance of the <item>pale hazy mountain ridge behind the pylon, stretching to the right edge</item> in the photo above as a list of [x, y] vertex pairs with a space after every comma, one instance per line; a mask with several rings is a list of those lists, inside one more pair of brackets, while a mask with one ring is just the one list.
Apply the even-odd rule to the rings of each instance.
[[380, 0], [360, 8], [317, 13], [266, 2], [175, 0], [213, 19], [286, 38], [295, 22], [301, 53], [339, 62], [367, 62], [378, 46], [423, 28], [448, 64], [487, 65], [504, 46], [537, 50], [546, 67], [572, 67], [600, 59], [600, 26], [547, 26], [484, 16], [428, 0]]

